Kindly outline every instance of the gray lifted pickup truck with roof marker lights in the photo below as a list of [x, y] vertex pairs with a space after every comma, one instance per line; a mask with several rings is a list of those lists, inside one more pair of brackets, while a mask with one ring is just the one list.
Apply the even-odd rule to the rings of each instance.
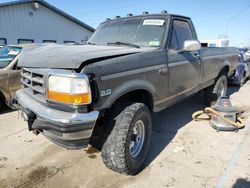
[[201, 48], [188, 17], [116, 18], [86, 45], [23, 54], [17, 101], [29, 130], [69, 149], [90, 143], [108, 168], [134, 175], [149, 150], [151, 113], [201, 90], [208, 104], [225, 95], [237, 58], [235, 48]]

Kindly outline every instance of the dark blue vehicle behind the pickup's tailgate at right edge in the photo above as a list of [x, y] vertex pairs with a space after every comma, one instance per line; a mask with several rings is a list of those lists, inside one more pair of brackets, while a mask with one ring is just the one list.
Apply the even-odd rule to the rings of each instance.
[[245, 52], [239, 50], [238, 65], [235, 73], [228, 78], [229, 83], [243, 86], [246, 79], [250, 78], [250, 59]]

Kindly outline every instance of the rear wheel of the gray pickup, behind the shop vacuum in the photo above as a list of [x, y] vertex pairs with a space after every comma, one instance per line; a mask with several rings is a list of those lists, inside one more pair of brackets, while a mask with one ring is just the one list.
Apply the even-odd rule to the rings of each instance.
[[211, 106], [216, 102], [217, 98], [226, 96], [227, 94], [227, 77], [224, 74], [218, 76], [215, 83], [205, 89], [205, 102]]

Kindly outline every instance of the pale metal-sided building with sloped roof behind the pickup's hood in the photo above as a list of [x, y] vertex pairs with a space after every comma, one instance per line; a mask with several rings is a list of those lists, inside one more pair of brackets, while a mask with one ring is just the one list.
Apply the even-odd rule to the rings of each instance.
[[43, 0], [0, 3], [0, 45], [81, 43], [94, 29]]

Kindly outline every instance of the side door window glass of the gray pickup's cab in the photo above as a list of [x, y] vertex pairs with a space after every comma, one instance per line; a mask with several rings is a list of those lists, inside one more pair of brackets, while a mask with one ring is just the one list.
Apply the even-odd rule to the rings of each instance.
[[193, 33], [187, 21], [174, 20], [170, 38], [170, 49], [183, 49], [186, 40], [193, 40]]

